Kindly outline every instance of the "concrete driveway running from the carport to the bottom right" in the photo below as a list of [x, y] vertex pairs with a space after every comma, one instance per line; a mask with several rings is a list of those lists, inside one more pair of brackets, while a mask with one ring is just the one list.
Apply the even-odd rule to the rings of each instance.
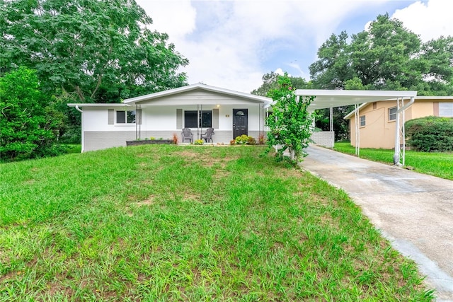
[[347, 192], [394, 248], [419, 265], [437, 301], [453, 301], [453, 181], [319, 146], [307, 152], [302, 169]]

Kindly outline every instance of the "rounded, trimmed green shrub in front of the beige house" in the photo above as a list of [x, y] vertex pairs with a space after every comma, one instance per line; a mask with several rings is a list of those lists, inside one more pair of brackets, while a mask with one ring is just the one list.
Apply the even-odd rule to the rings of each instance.
[[420, 117], [405, 124], [408, 146], [417, 151], [453, 151], [453, 118]]

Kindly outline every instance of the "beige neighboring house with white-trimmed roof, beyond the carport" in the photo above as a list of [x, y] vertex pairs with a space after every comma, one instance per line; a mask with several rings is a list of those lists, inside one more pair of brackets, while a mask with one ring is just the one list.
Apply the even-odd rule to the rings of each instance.
[[[406, 99], [405, 104], [408, 101]], [[360, 148], [394, 149], [396, 100], [364, 103], [357, 110]], [[453, 96], [416, 96], [415, 102], [404, 112], [404, 122], [430, 115], [453, 117]], [[355, 111], [346, 115], [345, 120], [349, 120], [351, 144], [355, 146]]]

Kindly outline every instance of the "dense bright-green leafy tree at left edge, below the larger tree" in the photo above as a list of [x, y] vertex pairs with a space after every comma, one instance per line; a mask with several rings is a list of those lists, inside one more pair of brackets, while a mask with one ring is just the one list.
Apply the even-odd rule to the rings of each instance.
[[0, 78], [1, 161], [55, 155], [62, 114], [50, 107], [35, 71], [21, 67]]

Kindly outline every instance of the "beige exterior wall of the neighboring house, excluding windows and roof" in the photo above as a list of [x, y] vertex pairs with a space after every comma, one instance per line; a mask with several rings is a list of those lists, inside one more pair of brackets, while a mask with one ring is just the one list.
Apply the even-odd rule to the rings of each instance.
[[[442, 100], [415, 99], [405, 112], [405, 121], [429, 115], [439, 115], [438, 103]], [[452, 103], [452, 100], [445, 100]], [[405, 100], [405, 104], [408, 100]], [[374, 104], [374, 105], [373, 105]], [[365, 115], [365, 127], [360, 127], [360, 148], [393, 149], [395, 146], [395, 124], [389, 121], [389, 108], [396, 107], [396, 100], [369, 103], [360, 109], [359, 116]], [[436, 112], [437, 108], [437, 112]], [[350, 118], [351, 145], [355, 146], [355, 116]]]

